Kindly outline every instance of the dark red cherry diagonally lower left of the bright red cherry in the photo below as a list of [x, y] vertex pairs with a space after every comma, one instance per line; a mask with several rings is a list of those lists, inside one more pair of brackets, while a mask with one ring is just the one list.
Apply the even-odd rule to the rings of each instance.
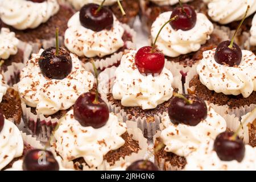
[[106, 124], [109, 119], [108, 105], [96, 93], [86, 92], [77, 98], [74, 105], [74, 116], [82, 126], [92, 126], [98, 129]]

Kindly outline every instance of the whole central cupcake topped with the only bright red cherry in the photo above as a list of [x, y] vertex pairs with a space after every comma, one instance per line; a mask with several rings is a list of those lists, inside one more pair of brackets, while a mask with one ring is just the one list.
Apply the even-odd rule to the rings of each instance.
[[[161, 60], [148, 60], [137, 66], [135, 57], [139, 54], [143, 55], [142, 59], [150, 56], [135, 50], [125, 52], [119, 67], [106, 69], [100, 74], [99, 88], [110, 110], [120, 113], [124, 121], [137, 122], [144, 135], [152, 138], [159, 129], [160, 118], [167, 111], [168, 101], [172, 97], [173, 76], [164, 68], [164, 56]], [[158, 74], [143, 73], [148, 71], [146, 67], [151, 64], [151, 69], [158, 69], [159, 63], [162, 69], [154, 70]]]

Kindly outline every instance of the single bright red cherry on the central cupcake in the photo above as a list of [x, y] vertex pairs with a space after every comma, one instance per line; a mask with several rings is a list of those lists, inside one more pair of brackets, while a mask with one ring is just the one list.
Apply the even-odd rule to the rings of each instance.
[[142, 47], [135, 55], [135, 65], [140, 73], [160, 74], [164, 68], [164, 54], [155, 47]]

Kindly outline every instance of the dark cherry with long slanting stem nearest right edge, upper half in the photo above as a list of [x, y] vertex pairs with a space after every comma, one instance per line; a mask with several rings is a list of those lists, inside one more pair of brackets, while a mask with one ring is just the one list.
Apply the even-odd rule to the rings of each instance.
[[229, 65], [229, 67], [234, 67], [234, 65], [239, 65], [242, 60], [241, 48], [233, 43], [232, 48], [229, 48], [230, 41], [226, 40], [218, 44], [214, 59], [218, 64]]

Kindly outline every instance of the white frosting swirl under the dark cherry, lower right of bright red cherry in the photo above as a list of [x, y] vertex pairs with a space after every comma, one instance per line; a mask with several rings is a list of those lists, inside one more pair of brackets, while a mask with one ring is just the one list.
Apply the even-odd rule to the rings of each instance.
[[201, 143], [214, 139], [218, 134], [226, 131], [225, 119], [209, 106], [207, 118], [196, 126], [174, 125], [168, 115], [162, 122], [165, 129], [161, 132], [160, 138], [166, 145], [164, 150], [179, 156], [187, 156], [199, 148]]

